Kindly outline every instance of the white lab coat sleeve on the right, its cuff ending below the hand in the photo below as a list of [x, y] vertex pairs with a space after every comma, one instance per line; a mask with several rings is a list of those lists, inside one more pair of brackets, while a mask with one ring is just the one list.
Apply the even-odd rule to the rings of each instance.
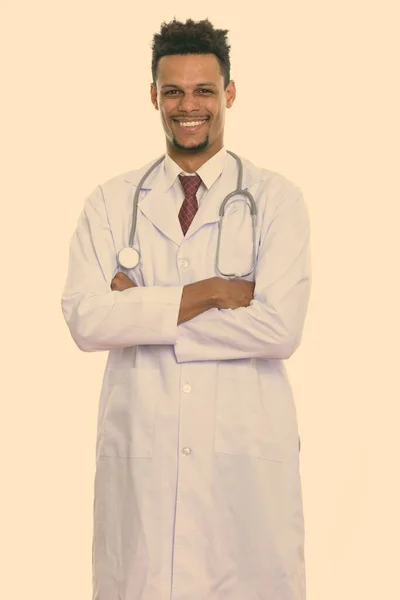
[[311, 284], [309, 215], [299, 188], [289, 188], [263, 226], [250, 306], [213, 308], [179, 325], [179, 363], [287, 359], [299, 346]]

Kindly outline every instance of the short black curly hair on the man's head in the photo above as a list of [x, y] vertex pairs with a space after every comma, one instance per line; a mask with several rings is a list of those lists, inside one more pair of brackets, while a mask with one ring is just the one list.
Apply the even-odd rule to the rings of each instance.
[[226, 89], [230, 81], [230, 46], [227, 43], [227, 29], [214, 29], [208, 19], [186, 23], [175, 18], [170, 23], [162, 23], [160, 33], [156, 33], [152, 42], [151, 72], [153, 83], [157, 80], [158, 61], [170, 54], [215, 54], [224, 77]]

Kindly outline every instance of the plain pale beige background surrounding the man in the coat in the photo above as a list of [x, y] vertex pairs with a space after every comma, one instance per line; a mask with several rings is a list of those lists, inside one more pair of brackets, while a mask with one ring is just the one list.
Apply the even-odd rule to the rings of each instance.
[[288, 363], [308, 600], [399, 598], [397, 2], [5, 4], [0, 597], [91, 597], [106, 355], [74, 346], [60, 296], [85, 197], [164, 151], [150, 41], [176, 15], [230, 30], [226, 146], [300, 185], [310, 210], [312, 300]]

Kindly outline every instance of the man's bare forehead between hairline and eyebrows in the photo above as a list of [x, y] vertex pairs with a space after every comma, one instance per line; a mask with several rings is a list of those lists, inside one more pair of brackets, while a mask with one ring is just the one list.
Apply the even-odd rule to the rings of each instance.
[[221, 84], [223, 76], [215, 54], [171, 54], [158, 63], [160, 85], [196, 85], [203, 82]]

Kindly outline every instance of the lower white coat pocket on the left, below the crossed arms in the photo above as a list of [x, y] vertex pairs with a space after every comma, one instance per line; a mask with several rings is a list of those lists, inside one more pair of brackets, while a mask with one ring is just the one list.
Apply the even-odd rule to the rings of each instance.
[[100, 456], [153, 456], [159, 377], [154, 369], [115, 369], [100, 434]]

